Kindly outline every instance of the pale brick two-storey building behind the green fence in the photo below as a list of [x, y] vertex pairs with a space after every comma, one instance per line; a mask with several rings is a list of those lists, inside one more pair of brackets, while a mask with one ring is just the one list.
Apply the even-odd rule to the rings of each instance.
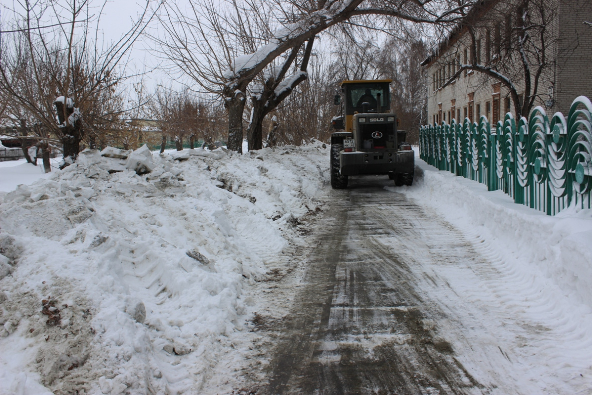
[[486, 115], [493, 125], [516, 116], [516, 102], [524, 114], [530, 98], [549, 115], [567, 115], [576, 97], [592, 98], [590, 22], [592, 0], [481, 1], [422, 63], [428, 120]]

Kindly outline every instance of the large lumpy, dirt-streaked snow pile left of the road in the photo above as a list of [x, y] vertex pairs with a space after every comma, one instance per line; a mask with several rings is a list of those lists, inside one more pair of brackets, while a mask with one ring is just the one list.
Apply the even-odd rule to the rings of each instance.
[[2, 392], [196, 393], [323, 203], [327, 155], [85, 151], [5, 194]]

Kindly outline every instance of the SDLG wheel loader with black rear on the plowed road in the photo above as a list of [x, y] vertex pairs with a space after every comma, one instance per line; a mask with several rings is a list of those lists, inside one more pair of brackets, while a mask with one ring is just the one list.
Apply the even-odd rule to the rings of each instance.
[[[353, 175], [388, 175], [395, 185], [413, 183], [415, 153], [397, 131], [391, 113], [390, 79], [343, 81], [335, 96], [341, 115], [332, 120], [331, 186], [348, 187]], [[344, 114], [345, 113], [345, 114]]]

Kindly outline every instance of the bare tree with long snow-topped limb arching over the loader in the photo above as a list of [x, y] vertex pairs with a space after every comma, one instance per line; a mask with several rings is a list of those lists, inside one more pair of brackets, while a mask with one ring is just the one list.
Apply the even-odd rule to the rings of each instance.
[[[475, 1], [244, 0], [239, 7], [238, 0], [216, 4], [212, 0], [192, 0], [190, 15], [186, 9], [166, 8], [161, 23], [167, 37], [158, 40], [163, 53], [179, 70], [202, 88], [223, 97], [229, 116], [227, 144], [240, 151], [247, 89], [282, 54], [289, 57], [292, 48], [303, 46], [321, 31], [350, 18], [382, 15], [416, 22], [452, 23], [461, 16], [462, 9]], [[271, 11], [269, 7], [273, 7]], [[228, 24], [230, 15], [235, 18]], [[270, 21], [269, 15], [279, 17]], [[268, 23], [281, 28], [265, 28]], [[266, 29], [273, 31], [271, 36], [249, 34]], [[247, 40], [249, 37], [255, 40]], [[246, 54], [240, 54], [241, 51]]]

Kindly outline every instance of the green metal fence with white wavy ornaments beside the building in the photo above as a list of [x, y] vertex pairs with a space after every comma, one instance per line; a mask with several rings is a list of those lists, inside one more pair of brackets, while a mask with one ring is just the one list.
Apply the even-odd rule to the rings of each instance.
[[529, 119], [507, 113], [494, 127], [484, 116], [424, 126], [420, 158], [548, 215], [568, 205], [592, 208], [592, 103], [580, 96], [567, 118], [555, 113], [551, 121], [536, 107]]

